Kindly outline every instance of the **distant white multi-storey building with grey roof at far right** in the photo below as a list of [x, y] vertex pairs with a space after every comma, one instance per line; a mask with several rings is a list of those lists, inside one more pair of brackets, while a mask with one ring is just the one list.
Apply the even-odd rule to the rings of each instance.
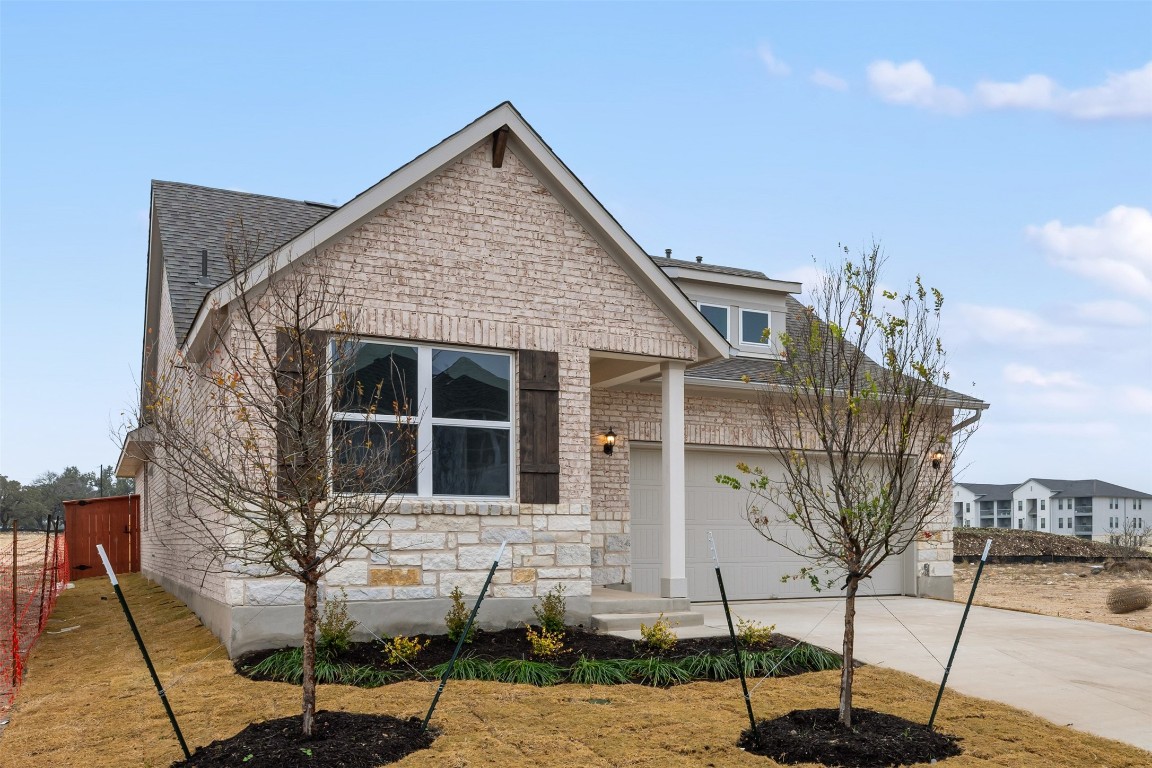
[[1129, 526], [1152, 529], [1152, 494], [1102, 480], [957, 482], [952, 500], [956, 527], [1044, 531], [1097, 541]]

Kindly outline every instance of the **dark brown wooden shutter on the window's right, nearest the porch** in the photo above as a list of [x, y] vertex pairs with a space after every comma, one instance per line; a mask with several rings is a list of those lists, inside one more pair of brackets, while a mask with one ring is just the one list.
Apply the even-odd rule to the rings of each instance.
[[520, 501], [560, 503], [560, 356], [521, 350]]

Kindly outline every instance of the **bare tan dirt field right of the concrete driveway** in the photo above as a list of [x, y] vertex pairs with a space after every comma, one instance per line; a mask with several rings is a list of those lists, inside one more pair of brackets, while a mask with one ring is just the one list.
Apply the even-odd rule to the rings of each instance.
[[[955, 599], [968, 600], [976, 565], [956, 564]], [[1112, 614], [1108, 592], [1116, 586], [1142, 584], [1152, 590], [1152, 563], [1135, 571], [1108, 565], [1093, 573], [1091, 565], [1052, 563], [1047, 565], [984, 567], [976, 591], [976, 604], [1024, 610], [1046, 616], [1081, 618], [1152, 632], [1152, 607], [1130, 614]]]

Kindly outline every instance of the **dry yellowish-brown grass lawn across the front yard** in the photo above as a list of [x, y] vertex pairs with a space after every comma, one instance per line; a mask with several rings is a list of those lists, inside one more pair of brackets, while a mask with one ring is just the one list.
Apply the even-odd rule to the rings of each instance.
[[[298, 689], [236, 676], [215, 638], [182, 603], [139, 577], [123, 580], [137, 623], [169, 690], [190, 745], [247, 723], [298, 712]], [[67, 628], [71, 631], [60, 632]], [[167, 766], [180, 756], [164, 710], [111, 586], [77, 583], [61, 598], [35, 649], [13, 722], [0, 735], [0, 766]], [[757, 716], [835, 705], [838, 672], [767, 680]], [[856, 704], [925, 721], [935, 687], [862, 668]], [[321, 686], [321, 708], [423, 715], [432, 683], [378, 690]], [[602, 702], [607, 700], [607, 702]], [[744, 725], [738, 683], [669, 690], [561, 685], [552, 689], [450, 682], [433, 720], [444, 730], [406, 768], [772, 766], [735, 747]], [[1087, 736], [1010, 707], [956, 693], [939, 727], [963, 738], [953, 768], [1149, 766], [1152, 754]]]

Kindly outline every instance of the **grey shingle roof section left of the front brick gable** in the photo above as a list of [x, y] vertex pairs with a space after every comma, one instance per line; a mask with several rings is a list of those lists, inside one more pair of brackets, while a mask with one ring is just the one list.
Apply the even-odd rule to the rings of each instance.
[[[241, 225], [255, 260], [335, 211], [321, 203], [166, 181], [152, 182], [152, 207], [179, 343], [184, 342], [207, 292], [232, 276], [225, 245], [229, 236], [237, 242]], [[209, 252], [206, 280], [200, 279], [203, 249]]]

